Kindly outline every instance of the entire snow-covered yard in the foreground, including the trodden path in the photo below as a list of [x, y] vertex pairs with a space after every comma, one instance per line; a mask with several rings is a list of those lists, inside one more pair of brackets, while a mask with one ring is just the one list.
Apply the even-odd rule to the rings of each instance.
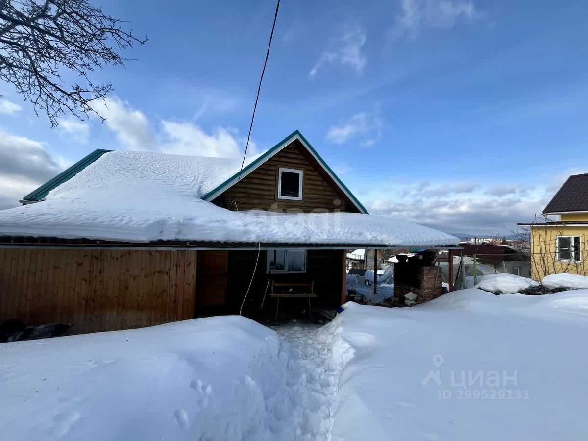
[[580, 440], [588, 290], [0, 345], [10, 440]]

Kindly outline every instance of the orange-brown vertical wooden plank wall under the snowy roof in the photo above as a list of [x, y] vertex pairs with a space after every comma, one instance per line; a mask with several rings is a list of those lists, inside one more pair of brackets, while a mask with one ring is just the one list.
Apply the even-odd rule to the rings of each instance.
[[190, 319], [195, 281], [195, 251], [0, 249], [0, 320], [85, 333]]

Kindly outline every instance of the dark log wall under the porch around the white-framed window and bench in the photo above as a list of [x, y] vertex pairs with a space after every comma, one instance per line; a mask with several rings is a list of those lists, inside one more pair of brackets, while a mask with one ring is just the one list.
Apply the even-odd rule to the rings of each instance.
[[[306, 273], [267, 274], [267, 252], [259, 255], [258, 268], [253, 277], [248, 300], [243, 309], [243, 315], [256, 317], [260, 311], [263, 293], [268, 286], [268, 279], [275, 278], [280, 282], [315, 282], [315, 292], [318, 298], [312, 300], [312, 306], [322, 308], [337, 308], [341, 304], [342, 272], [344, 270], [341, 250], [308, 250], [306, 252]], [[255, 268], [256, 251], [229, 251], [226, 313], [238, 314], [243, 297], [247, 291], [251, 274]], [[268, 289], [269, 293], [269, 289]], [[296, 300], [288, 299], [280, 303], [280, 310], [287, 310]], [[263, 312], [273, 315], [275, 301], [266, 297]], [[308, 302], [308, 300], [303, 300]]]

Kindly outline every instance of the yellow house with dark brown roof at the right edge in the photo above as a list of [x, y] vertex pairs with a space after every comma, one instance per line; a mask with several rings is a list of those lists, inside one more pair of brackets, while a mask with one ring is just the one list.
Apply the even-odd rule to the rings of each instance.
[[588, 276], [588, 173], [570, 176], [530, 227], [531, 275]]

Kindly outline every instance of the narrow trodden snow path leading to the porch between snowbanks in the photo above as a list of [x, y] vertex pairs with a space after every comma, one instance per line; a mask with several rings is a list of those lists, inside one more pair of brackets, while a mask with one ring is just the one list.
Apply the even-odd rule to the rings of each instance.
[[330, 440], [339, 366], [320, 325], [288, 324], [273, 329], [289, 355], [289, 390], [296, 440]]

